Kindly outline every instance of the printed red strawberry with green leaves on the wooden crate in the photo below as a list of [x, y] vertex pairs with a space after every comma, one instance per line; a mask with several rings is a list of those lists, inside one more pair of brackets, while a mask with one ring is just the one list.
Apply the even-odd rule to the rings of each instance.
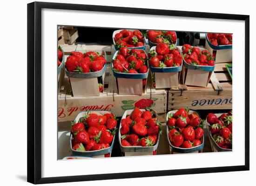
[[121, 106], [123, 110], [135, 109], [135, 107], [139, 109], [146, 109], [155, 106], [155, 101], [158, 100], [157, 98], [152, 99], [140, 99], [138, 101], [134, 100], [123, 100], [122, 103], [124, 104]]

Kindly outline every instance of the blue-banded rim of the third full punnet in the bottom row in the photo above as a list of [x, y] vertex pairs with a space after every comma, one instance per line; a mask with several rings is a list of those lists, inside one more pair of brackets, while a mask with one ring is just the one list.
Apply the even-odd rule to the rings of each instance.
[[[172, 113], [174, 114], [176, 111], [178, 111], [178, 110], [171, 110], [167, 113], [166, 122], [168, 121], [168, 115], [172, 114]], [[190, 109], [189, 114], [192, 114], [192, 113], [197, 114], [201, 118], [200, 114], [196, 110]], [[201, 145], [196, 146], [196, 147], [192, 147], [192, 148], [180, 148], [180, 147], [175, 147], [174, 145], [171, 144], [171, 142], [169, 140], [168, 132], [169, 132], [169, 130], [168, 130], [168, 126], [167, 126], [166, 127], [166, 133], [167, 133], [168, 144], [174, 152], [177, 152], [177, 153], [191, 153], [191, 152], [202, 150], [204, 148], [204, 134], [202, 136], [202, 140], [201, 140], [202, 144]]]

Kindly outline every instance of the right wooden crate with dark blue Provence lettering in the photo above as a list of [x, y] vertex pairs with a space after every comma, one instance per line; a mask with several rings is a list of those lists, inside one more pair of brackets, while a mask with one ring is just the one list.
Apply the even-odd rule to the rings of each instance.
[[190, 109], [232, 109], [232, 79], [225, 67], [218, 63], [207, 87], [179, 85], [168, 90], [168, 110], [189, 107]]

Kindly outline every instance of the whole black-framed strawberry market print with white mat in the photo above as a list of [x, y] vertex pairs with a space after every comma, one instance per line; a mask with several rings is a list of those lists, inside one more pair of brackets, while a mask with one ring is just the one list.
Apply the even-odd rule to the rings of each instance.
[[248, 15], [33, 2], [27, 36], [28, 182], [249, 170]]

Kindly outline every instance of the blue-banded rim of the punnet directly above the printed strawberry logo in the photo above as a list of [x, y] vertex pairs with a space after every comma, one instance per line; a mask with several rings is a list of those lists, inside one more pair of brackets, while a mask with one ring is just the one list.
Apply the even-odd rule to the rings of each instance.
[[[143, 51], [146, 56], [147, 56], [147, 59], [145, 61], [145, 65], [147, 65], [147, 61], [148, 61], [148, 55], [147, 53], [143, 50], [143, 49], [136, 49], [136, 50], [139, 50], [139, 51]], [[112, 58], [112, 61], [115, 60], [116, 56], [119, 54], [119, 51], [116, 51], [113, 58]], [[148, 66], [148, 65], [147, 65]], [[115, 76], [115, 78], [128, 78], [128, 79], [145, 79], [148, 77], [148, 72], [149, 72], [149, 68], [148, 68], [148, 71], [144, 74], [141, 74], [141, 73], [138, 73], [138, 74], [130, 74], [130, 73], [125, 73], [125, 72], [117, 72], [113, 69], [113, 62], [111, 62], [111, 67], [112, 67], [112, 70], [113, 70], [113, 74]]]

